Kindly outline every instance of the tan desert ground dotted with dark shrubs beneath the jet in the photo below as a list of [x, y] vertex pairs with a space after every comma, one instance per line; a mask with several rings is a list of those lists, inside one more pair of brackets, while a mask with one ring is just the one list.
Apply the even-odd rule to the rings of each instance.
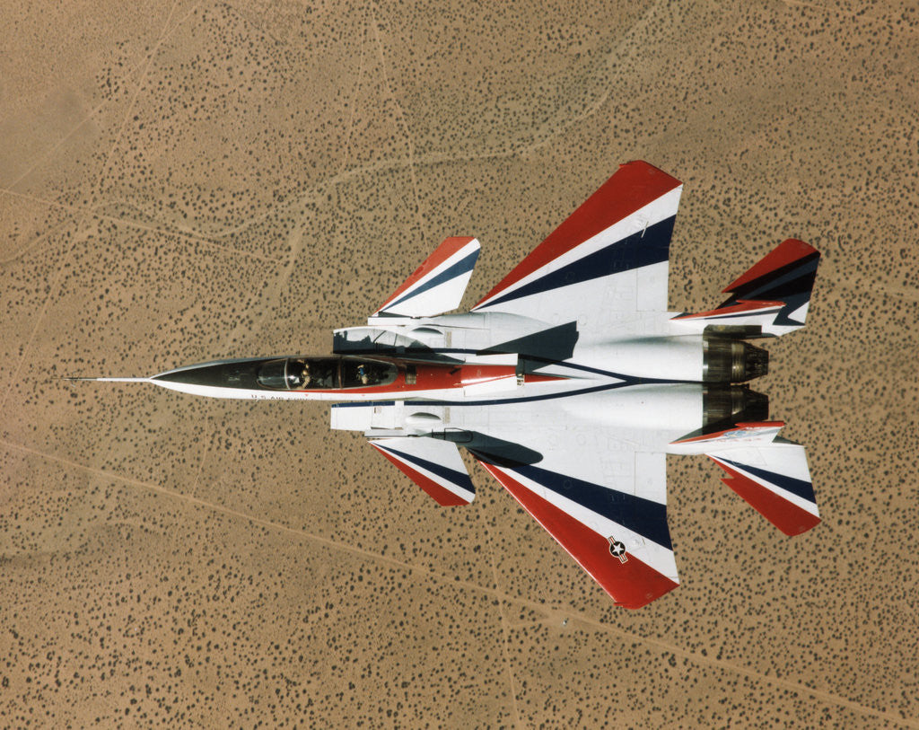
[[[735, 5], [2, 4], [0, 725], [919, 727], [919, 6]], [[471, 305], [632, 159], [675, 311], [823, 253], [755, 383], [823, 523], [668, 457], [645, 609], [327, 405], [59, 380], [327, 352], [447, 235]]]

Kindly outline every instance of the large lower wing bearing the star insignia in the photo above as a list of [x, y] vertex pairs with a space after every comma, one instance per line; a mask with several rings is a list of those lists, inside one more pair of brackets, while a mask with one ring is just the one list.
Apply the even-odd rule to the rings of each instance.
[[638, 609], [678, 585], [663, 452], [570, 412], [505, 424], [488, 437], [516, 442], [516, 458], [464, 445], [618, 605]]

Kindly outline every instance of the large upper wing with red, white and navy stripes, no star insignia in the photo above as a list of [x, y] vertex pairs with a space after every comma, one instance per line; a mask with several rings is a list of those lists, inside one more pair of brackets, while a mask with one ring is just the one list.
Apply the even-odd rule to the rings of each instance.
[[[665, 312], [670, 236], [682, 183], [646, 162], [621, 165], [475, 306], [579, 330], [609, 313]], [[585, 326], [586, 325], [586, 326]]]

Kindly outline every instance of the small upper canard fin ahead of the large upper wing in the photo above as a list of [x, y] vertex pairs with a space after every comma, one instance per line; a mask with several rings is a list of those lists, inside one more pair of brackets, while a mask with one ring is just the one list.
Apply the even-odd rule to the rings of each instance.
[[456, 309], [479, 258], [479, 247], [478, 240], [469, 236], [444, 239], [372, 316], [430, 317]]

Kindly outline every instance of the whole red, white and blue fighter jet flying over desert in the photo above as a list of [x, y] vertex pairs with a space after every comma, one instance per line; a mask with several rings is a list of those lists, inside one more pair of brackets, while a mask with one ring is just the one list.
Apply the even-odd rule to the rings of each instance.
[[369, 443], [444, 506], [472, 456], [620, 606], [678, 585], [666, 454], [705, 454], [787, 535], [820, 521], [804, 448], [744, 384], [746, 340], [804, 325], [820, 254], [789, 239], [701, 313], [667, 310], [682, 184], [621, 165], [471, 311], [456, 310], [479, 242], [446, 239], [333, 355], [230, 359], [152, 382], [219, 398], [336, 401], [332, 428]]

